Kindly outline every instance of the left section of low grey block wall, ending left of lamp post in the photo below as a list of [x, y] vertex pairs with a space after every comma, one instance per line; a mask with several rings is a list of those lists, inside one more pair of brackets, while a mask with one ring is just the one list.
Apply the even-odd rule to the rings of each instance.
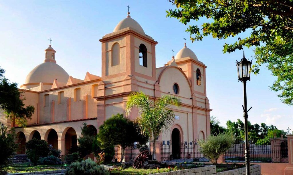
[[192, 168], [192, 169], [184, 169], [178, 171], [171, 171], [165, 173], [157, 173], [158, 175], [216, 175], [216, 166], [210, 165], [206, 167]]

